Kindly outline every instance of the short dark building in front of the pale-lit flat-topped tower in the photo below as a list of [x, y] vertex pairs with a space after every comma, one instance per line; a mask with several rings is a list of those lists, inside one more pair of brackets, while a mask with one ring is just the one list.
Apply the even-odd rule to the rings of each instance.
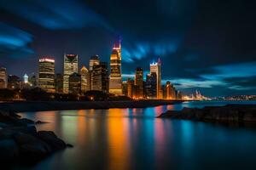
[[79, 73], [74, 72], [68, 78], [69, 82], [69, 94], [80, 94], [81, 93], [81, 75]]

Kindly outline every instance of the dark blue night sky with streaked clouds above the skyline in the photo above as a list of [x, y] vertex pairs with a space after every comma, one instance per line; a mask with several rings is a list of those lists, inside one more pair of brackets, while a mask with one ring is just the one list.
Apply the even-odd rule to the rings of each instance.
[[122, 71], [162, 60], [163, 83], [207, 96], [256, 94], [256, 3], [251, 0], [0, 0], [0, 66], [38, 72], [40, 56], [108, 61], [122, 37]]

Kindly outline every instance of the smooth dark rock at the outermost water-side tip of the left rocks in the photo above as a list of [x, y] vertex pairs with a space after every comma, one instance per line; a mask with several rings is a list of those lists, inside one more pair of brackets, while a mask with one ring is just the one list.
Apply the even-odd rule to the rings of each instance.
[[54, 132], [39, 131], [38, 138], [49, 144], [52, 150], [63, 150], [67, 147], [67, 144], [59, 139]]

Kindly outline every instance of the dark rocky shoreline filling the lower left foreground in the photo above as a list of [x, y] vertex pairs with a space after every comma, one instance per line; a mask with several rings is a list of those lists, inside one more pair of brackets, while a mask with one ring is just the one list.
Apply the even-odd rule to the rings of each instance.
[[70, 146], [51, 131], [37, 131], [37, 123], [43, 122], [21, 118], [14, 111], [0, 110], [0, 160], [3, 164], [40, 161]]

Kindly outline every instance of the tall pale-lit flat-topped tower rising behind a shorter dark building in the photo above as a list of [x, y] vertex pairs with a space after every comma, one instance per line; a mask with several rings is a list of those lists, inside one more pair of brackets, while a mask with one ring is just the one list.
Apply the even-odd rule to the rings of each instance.
[[64, 54], [64, 74], [63, 74], [63, 93], [68, 94], [69, 91], [69, 77], [74, 72], [79, 71], [79, 55], [78, 54]]

